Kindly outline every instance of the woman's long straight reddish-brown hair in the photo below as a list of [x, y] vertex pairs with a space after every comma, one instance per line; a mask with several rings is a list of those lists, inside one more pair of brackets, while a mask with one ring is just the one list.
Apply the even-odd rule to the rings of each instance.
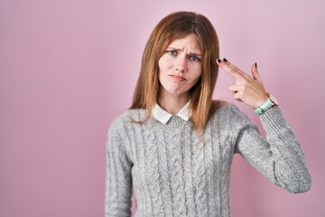
[[209, 118], [218, 109], [220, 103], [212, 101], [218, 77], [217, 33], [208, 18], [202, 14], [176, 12], [165, 16], [155, 26], [144, 48], [140, 76], [130, 108], [148, 111], [147, 116], [141, 122], [149, 118], [159, 95], [159, 59], [172, 41], [184, 38], [189, 34], [197, 36], [203, 55], [201, 77], [190, 89], [190, 121], [194, 128], [202, 133]]

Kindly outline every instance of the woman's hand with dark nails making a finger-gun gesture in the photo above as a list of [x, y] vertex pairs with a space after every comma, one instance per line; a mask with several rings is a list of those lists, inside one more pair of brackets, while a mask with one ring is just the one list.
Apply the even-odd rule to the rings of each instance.
[[218, 59], [217, 64], [235, 80], [235, 85], [228, 88], [233, 94], [234, 99], [243, 101], [255, 109], [268, 98], [263, 81], [258, 74], [256, 63], [252, 66], [252, 77], [238, 69], [225, 58], [223, 61]]

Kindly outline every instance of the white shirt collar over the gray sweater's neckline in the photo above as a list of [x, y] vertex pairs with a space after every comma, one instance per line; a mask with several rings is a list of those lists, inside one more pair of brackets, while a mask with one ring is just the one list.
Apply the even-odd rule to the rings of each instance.
[[[176, 114], [176, 116], [186, 121], [190, 119], [190, 101], [186, 103], [183, 108], [181, 108], [181, 110]], [[168, 120], [172, 118], [172, 114], [161, 108], [156, 103], [153, 107], [153, 117], [162, 122], [163, 124], [166, 124]]]

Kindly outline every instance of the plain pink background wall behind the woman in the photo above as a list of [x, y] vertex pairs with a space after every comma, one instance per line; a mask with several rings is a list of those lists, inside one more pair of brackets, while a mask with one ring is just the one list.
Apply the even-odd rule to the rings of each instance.
[[[178, 10], [208, 16], [239, 68], [257, 61], [311, 170], [311, 191], [290, 194], [236, 156], [233, 216], [325, 216], [325, 1], [1, 0], [1, 217], [103, 216], [107, 128], [153, 26]], [[215, 98], [230, 84], [220, 71]]]

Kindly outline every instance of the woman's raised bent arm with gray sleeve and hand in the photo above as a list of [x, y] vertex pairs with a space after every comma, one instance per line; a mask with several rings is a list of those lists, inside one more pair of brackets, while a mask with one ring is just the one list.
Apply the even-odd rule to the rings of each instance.
[[[230, 86], [234, 99], [256, 109], [269, 97], [257, 64], [252, 66], [252, 77], [226, 59], [217, 60], [218, 65], [235, 80]], [[260, 113], [259, 113], [260, 114]], [[245, 114], [232, 107], [230, 124], [236, 138], [236, 151], [246, 158], [260, 173], [274, 184], [291, 193], [306, 192], [311, 188], [309, 174], [302, 149], [289, 123], [283, 118], [278, 106], [263, 110], [259, 116], [266, 132], [263, 138]]]

